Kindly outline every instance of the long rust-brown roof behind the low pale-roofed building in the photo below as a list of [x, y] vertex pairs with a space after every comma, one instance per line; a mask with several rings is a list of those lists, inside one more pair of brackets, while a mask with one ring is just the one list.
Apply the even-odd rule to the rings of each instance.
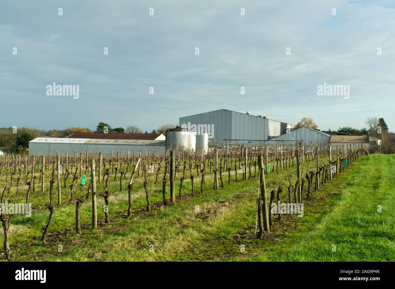
[[67, 138], [97, 138], [107, 140], [164, 140], [163, 134], [129, 134], [129, 133], [103, 133], [103, 132], [74, 132]]

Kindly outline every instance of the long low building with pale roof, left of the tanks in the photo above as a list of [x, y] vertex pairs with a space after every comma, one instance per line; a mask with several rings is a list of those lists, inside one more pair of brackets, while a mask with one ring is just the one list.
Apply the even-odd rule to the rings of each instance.
[[128, 139], [97, 139], [97, 138], [35, 138], [29, 142], [29, 155], [48, 155], [54, 153], [111, 153], [120, 151], [152, 151], [163, 153], [164, 140], [128, 140]]

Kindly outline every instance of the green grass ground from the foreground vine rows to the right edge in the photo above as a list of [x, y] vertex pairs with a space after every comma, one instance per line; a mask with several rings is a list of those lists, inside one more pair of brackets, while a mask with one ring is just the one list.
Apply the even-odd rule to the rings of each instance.
[[[47, 244], [39, 240], [46, 225], [48, 196], [32, 196], [31, 218], [11, 219], [10, 243], [13, 261], [393, 261], [394, 251], [394, 163], [395, 155], [369, 155], [359, 158], [337, 179], [304, 200], [304, 216], [274, 216], [273, 229], [262, 240], [255, 238], [258, 177], [232, 181], [224, 173], [225, 187], [213, 190], [213, 175], [206, 176], [203, 193], [190, 196], [190, 180], [185, 179], [183, 199], [162, 205], [162, 183], [150, 181], [152, 210], [145, 211], [142, 179], [137, 180], [134, 210], [127, 219], [127, 192], [110, 199], [110, 224], [103, 224], [98, 197], [98, 230], [90, 229], [91, 203], [81, 207], [82, 233], [75, 233], [75, 205], [56, 207]], [[314, 168], [314, 161], [306, 164]], [[286, 170], [294, 183], [295, 168]], [[162, 175], [163, 176], [163, 175]], [[181, 173], [177, 173], [177, 178]], [[125, 180], [124, 188], [127, 187]], [[239, 180], [241, 174], [239, 175]], [[269, 190], [278, 187], [279, 174], [266, 176]], [[234, 180], [234, 171], [232, 172]], [[179, 183], [177, 182], [179, 186]], [[178, 188], [176, 185], [176, 196]], [[77, 196], [85, 194], [79, 186]], [[119, 180], [110, 191], [119, 190]], [[195, 177], [195, 190], [200, 179]], [[56, 192], [56, 189], [54, 190]], [[100, 188], [98, 186], [98, 192]], [[284, 190], [282, 199], [288, 200]], [[167, 193], [168, 195], [168, 193]], [[67, 201], [68, 194], [63, 194]], [[23, 196], [15, 197], [14, 199]], [[382, 206], [382, 213], [377, 206]], [[198, 207], [197, 207], [198, 206]], [[197, 210], [199, 208], [199, 210]], [[332, 245], [336, 252], [332, 252]], [[61, 252], [59, 248], [62, 248]], [[245, 251], [241, 252], [244, 248]], [[2, 251], [1, 254], [4, 254]], [[4, 256], [1, 257], [4, 261]]]

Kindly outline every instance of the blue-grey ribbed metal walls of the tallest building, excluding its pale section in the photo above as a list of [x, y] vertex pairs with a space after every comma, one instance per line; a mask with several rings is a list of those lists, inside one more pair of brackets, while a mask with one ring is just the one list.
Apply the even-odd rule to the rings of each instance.
[[220, 144], [228, 144], [229, 140], [239, 144], [248, 144], [248, 140], [267, 140], [269, 132], [269, 119], [226, 109], [180, 117], [180, 124], [188, 125], [188, 122], [191, 125], [214, 125], [214, 139], [209, 138], [209, 142]]

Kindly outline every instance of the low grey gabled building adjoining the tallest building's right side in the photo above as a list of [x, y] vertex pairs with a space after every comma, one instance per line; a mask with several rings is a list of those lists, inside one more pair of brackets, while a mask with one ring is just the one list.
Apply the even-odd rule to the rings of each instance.
[[[335, 136], [335, 135], [333, 135]], [[336, 135], [337, 136], [337, 135]], [[292, 129], [289, 133], [282, 134], [275, 138], [271, 138], [264, 142], [265, 145], [276, 145], [284, 143], [286, 145], [315, 145], [315, 144], [328, 144], [331, 136], [325, 132], [308, 127], [300, 127], [299, 129]]]

